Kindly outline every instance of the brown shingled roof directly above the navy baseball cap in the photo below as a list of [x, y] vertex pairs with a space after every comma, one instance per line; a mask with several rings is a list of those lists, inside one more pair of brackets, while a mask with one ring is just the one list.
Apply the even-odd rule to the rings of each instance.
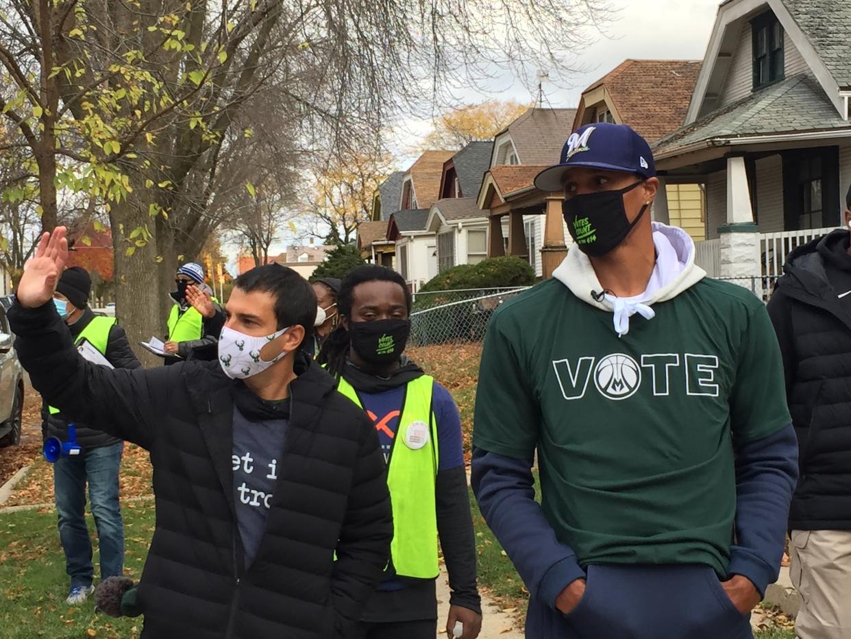
[[[629, 124], [650, 142], [676, 131], [685, 122], [701, 60], [625, 60], [591, 84], [584, 96], [605, 87], [620, 124]], [[588, 105], [580, 104], [577, 122]]]

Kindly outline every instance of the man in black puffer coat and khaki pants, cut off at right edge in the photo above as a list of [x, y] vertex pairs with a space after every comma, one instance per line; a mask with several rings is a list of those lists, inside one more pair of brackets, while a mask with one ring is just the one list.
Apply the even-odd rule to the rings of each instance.
[[801, 639], [851, 636], [851, 190], [845, 227], [792, 251], [768, 314], [798, 437], [791, 579]]

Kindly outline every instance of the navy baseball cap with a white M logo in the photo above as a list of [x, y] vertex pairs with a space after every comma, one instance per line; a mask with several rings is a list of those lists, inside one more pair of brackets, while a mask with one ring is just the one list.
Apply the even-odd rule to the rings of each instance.
[[645, 180], [656, 176], [650, 145], [626, 124], [585, 124], [568, 137], [559, 163], [535, 177], [535, 187], [561, 191], [564, 174], [574, 166], [635, 173]]

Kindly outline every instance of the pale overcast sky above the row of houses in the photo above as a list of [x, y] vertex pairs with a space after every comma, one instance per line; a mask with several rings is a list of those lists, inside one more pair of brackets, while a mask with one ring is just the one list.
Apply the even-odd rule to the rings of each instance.
[[[552, 107], [576, 107], [586, 87], [620, 65], [627, 58], [638, 60], [702, 60], [715, 22], [720, 0], [614, 0], [622, 9], [617, 18], [598, 35], [576, 60], [583, 71], [570, 78], [545, 84], [545, 104]], [[554, 70], [551, 70], [554, 71]], [[555, 73], [553, 73], [555, 76]], [[509, 76], [494, 80], [488, 87], [493, 93], [483, 95], [477, 90], [457, 92], [461, 101], [477, 103], [498, 97], [500, 100], [534, 101], [523, 86]], [[391, 149], [397, 168], [406, 169], [416, 155], [411, 151], [431, 130], [428, 119], [406, 119], [392, 135]], [[287, 232], [285, 232], [287, 233]], [[277, 254], [292, 240], [282, 238], [271, 247]]]

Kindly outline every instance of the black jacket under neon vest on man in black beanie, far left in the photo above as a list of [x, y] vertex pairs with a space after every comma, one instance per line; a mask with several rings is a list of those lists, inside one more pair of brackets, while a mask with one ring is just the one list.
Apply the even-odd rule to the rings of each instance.
[[[94, 320], [92, 309], [86, 307], [83, 315], [79, 320], [74, 322], [68, 328], [71, 329], [71, 338], [77, 339], [77, 336], [83, 332], [89, 322]], [[127, 334], [124, 329], [113, 324], [109, 331], [109, 341], [106, 343], [106, 359], [116, 368], [140, 368], [142, 365], [136, 359], [133, 349], [130, 348], [130, 343], [127, 340]], [[74, 423], [77, 430], [77, 443], [85, 448], [99, 448], [100, 446], [111, 446], [117, 444], [119, 439], [112, 435], [106, 435], [102, 430], [91, 428], [85, 423], [77, 422], [74, 417], [67, 416], [60, 412], [54, 415], [50, 414], [47, 404], [42, 405], [42, 436], [44, 440], [50, 437], [57, 437], [62, 441], [68, 439], [68, 422]]]

